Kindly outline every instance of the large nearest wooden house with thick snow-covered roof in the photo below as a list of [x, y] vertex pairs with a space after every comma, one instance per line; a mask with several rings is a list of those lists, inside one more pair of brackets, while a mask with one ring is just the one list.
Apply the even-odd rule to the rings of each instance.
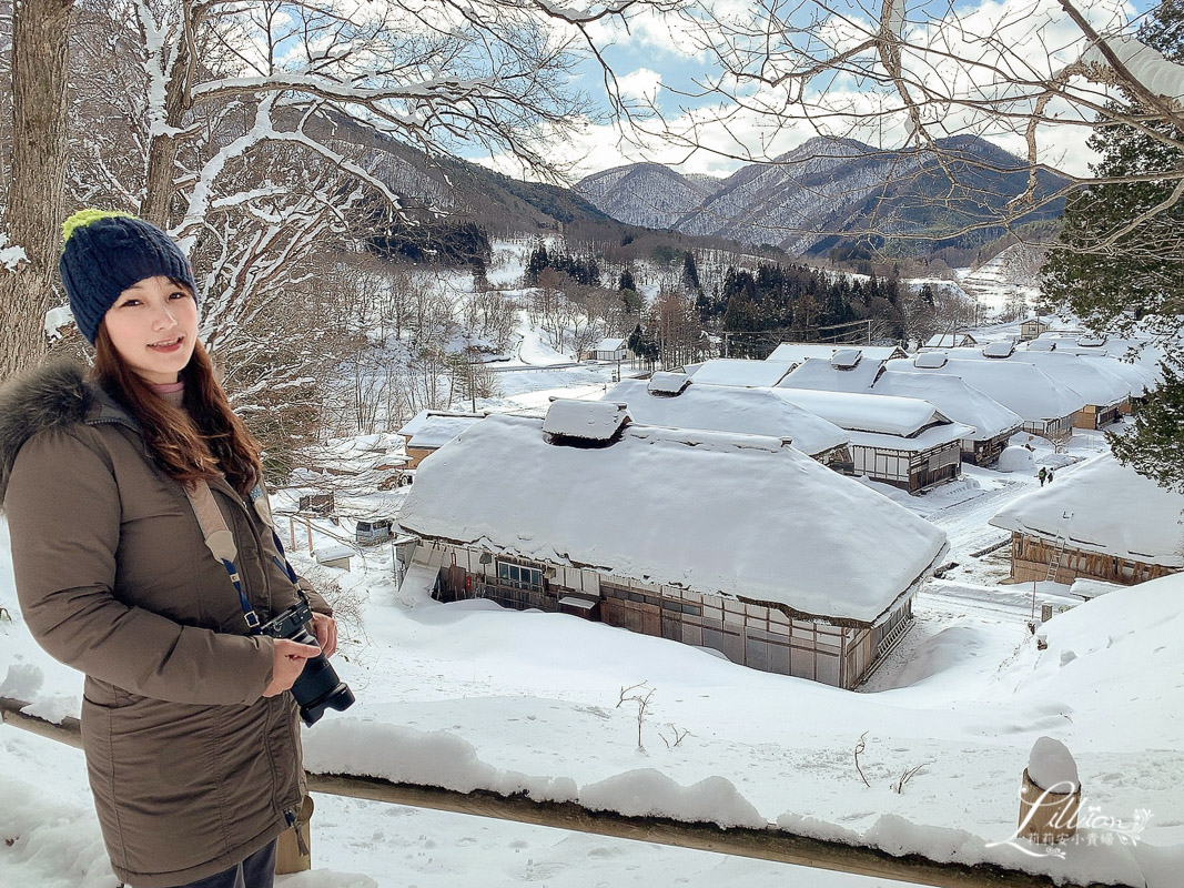
[[400, 523], [418, 536], [405, 592], [562, 611], [841, 688], [906, 631], [947, 551], [777, 438], [635, 425], [609, 401], [472, 424], [424, 463]]

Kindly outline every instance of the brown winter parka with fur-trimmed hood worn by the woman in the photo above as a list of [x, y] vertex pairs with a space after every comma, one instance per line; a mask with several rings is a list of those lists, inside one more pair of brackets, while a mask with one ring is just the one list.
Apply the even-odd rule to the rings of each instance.
[[[227, 483], [210, 488], [266, 620], [296, 601], [271, 529]], [[83, 747], [116, 875], [184, 884], [283, 831], [304, 772], [291, 694], [260, 696], [272, 642], [249, 633], [184, 488], [81, 367], [50, 365], [0, 394], [0, 508], [30, 631], [86, 675]]]

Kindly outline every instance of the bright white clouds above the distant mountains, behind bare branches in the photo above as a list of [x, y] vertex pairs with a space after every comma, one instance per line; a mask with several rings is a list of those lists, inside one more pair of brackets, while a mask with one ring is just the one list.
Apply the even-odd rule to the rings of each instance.
[[[1102, 32], [1113, 32], [1135, 17], [1127, 0], [1086, 0], [1079, 6]], [[728, 0], [718, 7], [746, 21], [746, 26], [752, 25], [751, 4]], [[852, 5], [842, 18], [831, 13], [809, 38], [794, 33], [780, 45], [774, 40], [777, 51], [772, 57], [758, 53], [753, 58], [759, 57], [762, 64], [757, 67], [754, 63], [748, 70], [776, 77], [800, 67], [811, 53], [850, 49], [875, 33], [874, 15], [880, 8], [874, 2], [867, 9]], [[907, 39], [902, 63], [909, 75], [909, 92], [928, 96], [922, 107], [928, 133], [939, 139], [978, 135], [1025, 155], [1025, 112], [1040, 97], [1041, 83], [1081, 57], [1086, 49], [1081, 32], [1057, 0], [983, 0], [973, 6], [942, 7], [935, 18], [929, 17], [932, 8], [910, 5], [900, 25]], [[635, 56], [646, 62], [644, 67], [619, 78], [626, 97], [650, 99], [661, 90], [663, 104], [673, 104], [677, 94], [667, 76], [675, 64], [671, 59], [681, 65], [683, 77], [688, 58], [700, 58], [703, 77], [712, 76], [703, 52], [708, 36], [696, 34], [687, 15], [661, 19], [648, 13], [636, 17], [632, 25], [629, 34], [612, 31], [618, 53], [635, 50]], [[654, 52], [654, 47], [661, 51]], [[883, 73], [874, 53], [861, 57], [860, 63], [866, 65], [867, 75]], [[721, 86], [739, 101], [670, 112], [663, 127], [652, 121], [622, 127], [585, 124], [578, 135], [555, 144], [548, 154], [570, 163], [575, 179], [638, 161], [722, 175], [745, 162], [777, 157], [819, 134], [849, 136], [875, 147], [905, 144], [912, 128], [899, 94], [871, 76], [861, 79], [857, 75], [826, 72], [807, 86], [804, 98], [794, 96], [787, 85], [758, 86], [755, 81], [726, 78]], [[1095, 104], [1107, 98], [1106, 88], [1080, 78], [1070, 83], [1069, 92]], [[1074, 175], [1087, 175], [1087, 165], [1095, 160], [1086, 146], [1089, 128], [1082, 126], [1093, 117], [1088, 105], [1057, 98], [1049, 102], [1044, 114], [1067, 123], [1042, 123], [1036, 129], [1038, 160]]]

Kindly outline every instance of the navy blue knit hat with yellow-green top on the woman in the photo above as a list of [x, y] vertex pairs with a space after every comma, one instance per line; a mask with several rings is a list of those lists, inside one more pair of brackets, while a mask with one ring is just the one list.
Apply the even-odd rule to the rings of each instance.
[[198, 295], [193, 270], [173, 239], [128, 213], [81, 210], [62, 226], [58, 272], [78, 329], [91, 345], [120, 294], [148, 277], [180, 281]]

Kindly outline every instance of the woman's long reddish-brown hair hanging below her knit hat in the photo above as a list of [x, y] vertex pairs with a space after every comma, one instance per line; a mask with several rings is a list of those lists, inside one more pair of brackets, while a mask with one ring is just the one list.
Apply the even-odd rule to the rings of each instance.
[[181, 371], [185, 407], [169, 404], [120, 358], [99, 323], [95, 337], [95, 380], [117, 398], [143, 429], [144, 443], [160, 469], [182, 484], [219, 474], [246, 496], [263, 480], [259, 444], [234, 416], [210, 355], [200, 341]]

